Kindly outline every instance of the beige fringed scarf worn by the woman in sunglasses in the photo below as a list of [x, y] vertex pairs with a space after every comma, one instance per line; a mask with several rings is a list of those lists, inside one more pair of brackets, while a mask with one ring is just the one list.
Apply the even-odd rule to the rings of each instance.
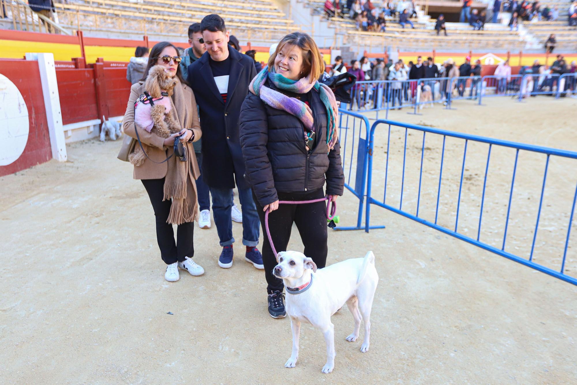
[[[182, 85], [177, 79], [177, 85], [174, 86], [173, 101], [174, 106], [172, 111], [177, 115], [177, 120], [180, 126], [185, 127], [186, 119], [188, 118], [188, 109], [186, 108], [184, 92]], [[178, 157], [173, 156], [167, 161], [168, 171], [166, 172], [166, 179], [164, 180], [164, 198], [163, 200], [172, 199], [170, 206], [170, 214], [168, 214], [167, 223], [181, 224], [185, 222], [193, 222], [198, 216], [198, 199], [196, 193], [196, 183], [192, 175], [192, 158], [194, 157], [194, 149], [191, 143], [184, 143], [186, 147], [186, 161], [181, 162]], [[173, 153], [173, 149], [169, 149], [168, 153]]]

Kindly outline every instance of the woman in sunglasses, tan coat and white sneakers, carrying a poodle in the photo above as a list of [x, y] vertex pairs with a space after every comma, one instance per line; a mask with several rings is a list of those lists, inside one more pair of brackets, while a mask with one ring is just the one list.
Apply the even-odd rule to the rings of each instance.
[[[196, 101], [190, 87], [182, 80], [179, 71], [178, 50], [168, 42], [156, 43], [148, 58], [145, 76], [130, 88], [130, 97], [122, 127], [126, 135], [138, 136], [147, 154], [141, 165], [134, 166], [134, 179], [140, 179], [148, 193], [156, 217], [156, 240], [160, 256], [167, 265], [164, 279], [175, 282], [179, 279], [178, 269], [185, 269], [192, 275], [201, 275], [204, 269], [192, 261], [194, 256], [194, 220], [198, 214], [198, 202], [194, 179], [200, 175], [195, 157], [181, 161], [174, 156], [174, 139], [181, 136], [181, 142], [190, 154], [194, 140], [200, 139], [202, 132], [198, 124]], [[144, 94], [144, 82], [152, 66], [162, 65], [168, 76], [177, 80], [171, 102], [182, 131], [163, 138], [155, 132], [137, 127], [134, 122], [134, 103]], [[139, 145], [136, 145], [140, 149]], [[171, 156], [164, 161], [167, 156]], [[184, 186], [183, 193], [177, 193]], [[173, 224], [177, 224], [177, 240], [174, 242]]]

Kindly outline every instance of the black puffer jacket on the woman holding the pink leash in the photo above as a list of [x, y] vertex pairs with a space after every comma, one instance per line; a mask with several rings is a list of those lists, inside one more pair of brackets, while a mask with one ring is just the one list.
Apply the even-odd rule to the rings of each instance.
[[[270, 82], [265, 86], [277, 90]], [[317, 133], [312, 151], [306, 151], [301, 120], [265, 105], [249, 92], [242, 103], [240, 140], [246, 179], [261, 206], [278, 200], [277, 191], [299, 193], [322, 188], [327, 194], [343, 195], [344, 176], [340, 146], [327, 154], [327, 110], [319, 92], [309, 91]]]

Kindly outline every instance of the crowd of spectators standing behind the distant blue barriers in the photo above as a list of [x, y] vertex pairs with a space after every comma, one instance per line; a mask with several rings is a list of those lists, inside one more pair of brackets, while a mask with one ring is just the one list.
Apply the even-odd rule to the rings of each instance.
[[[444, 105], [447, 105], [451, 94], [452, 98], [467, 97], [467, 88], [468, 97], [477, 98], [481, 92], [481, 76], [486, 75], [481, 71], [481, 61], [472, 63], [469, 56], [465, 57], [460, 65], [456, 65], [450, 58], [441, 64], [435, 64], [432, 57], [423, 60], [419, 56], [415, 62], [405, 63], [402, 59], [385, 62], [380, 58], [369, 60], [363, 56], [360, 60], [352, 60], [349, 68], [343, 63], [342, 57], [338, 56], [329, 75], [349, 72], [357, 77], [357, 82], [365, 81], [355, 84], [351, 90], [353, 104], [356, 104], [358, 109], [374, 109], [378, 103], [384, 102], [388, 102], [391, 108], [402, 108], [403, 104], [411, 105], [417, 100], [418, 87], [431, 92], [430, 101], [443, 102]], [[486, 86], [494, 87], [497, 94], [516, 94], [519, 90], [527, 96], [540, 92], [550, 93], [556, 90], [557, 86], [561, 87], [561, 84], [557, 84], [560, 75], [577, 73], [577, 63], [572, 61], [567, 64], [563, 55], [557, 55], [557, 59], [550, 66], [541, 65], [536, 60], [533, 66], [522, 66], [519, 69], [519, 75], [531, 73], [536, 76], [526, 77], [526, 82], [522, 84], [522, 77], [513, 76], [509, 60], [505, 60], [497, 65], [493, 76], [486, 80]], [[389, 82], [366, 83], [381, 80]], [[576, 88], [577, 75], [569, 76], [564, 80], [560, 94], [563, 95], [568, 90], [575, 92]]]

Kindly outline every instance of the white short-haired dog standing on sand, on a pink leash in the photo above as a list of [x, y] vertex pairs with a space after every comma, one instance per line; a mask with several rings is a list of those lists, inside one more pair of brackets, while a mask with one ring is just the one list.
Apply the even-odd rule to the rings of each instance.
[[365, 258], [338, 262], [318, 271], [313, 260], [298, 251], [278, 253], [276, 261], [278, 265], [273, 274], [286, 286], [286, 312], [293, 330], [293, 354], [285, 367], [294, 368], [297, 364], [301, 322], [305, 321], [323, 331], [327, 343], [327, 364], [323, 373], [332, 372], [335, 367], [335, 325], [331, 323], [331, 316], [344, 303], [349, 306], [355, 320], [353, 333], [347, 336], [347, 341], [357, 340], [362, 317], [365, 340], [361, 351], [369, 350], [370, 310], [379, 283], [372, 251]]

